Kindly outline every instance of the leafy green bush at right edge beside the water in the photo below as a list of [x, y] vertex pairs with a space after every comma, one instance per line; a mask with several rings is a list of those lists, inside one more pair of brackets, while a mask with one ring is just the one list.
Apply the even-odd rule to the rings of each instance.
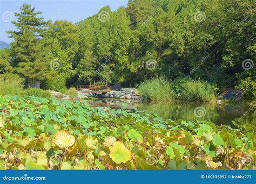
[[251, 80], [251, 77], [241, 80], [235, 89], [244, 91], [244, 99], [246, 101], [255, 100], [256, 98], [256, 82]]

